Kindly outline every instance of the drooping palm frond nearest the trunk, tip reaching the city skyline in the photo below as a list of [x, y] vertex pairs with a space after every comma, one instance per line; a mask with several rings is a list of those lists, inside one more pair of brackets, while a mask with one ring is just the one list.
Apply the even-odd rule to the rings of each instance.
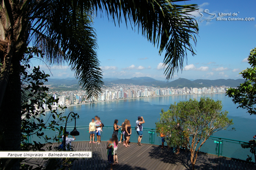
[[41, 11], [42, 6], [45, 10], [39, 16], [38, 11], [34, 11], [37, 15], [31, 20], [31, 40], [45, 52], [49, 63], [68, 61], [87, 98], [97, 98], [103, 82], [96, 34], [87, 12], [74, 8], [71, 1], [65, 2], [40, 4], [38, 10]]

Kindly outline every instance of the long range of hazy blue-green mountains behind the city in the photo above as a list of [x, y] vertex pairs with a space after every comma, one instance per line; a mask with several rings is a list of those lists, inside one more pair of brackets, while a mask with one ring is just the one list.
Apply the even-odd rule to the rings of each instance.
[[[179, 78], [177, 80], [173, 80], [172, 82], [165, 82], [161, 80], [156, 80], [150, 77], [139, 77], [139, 78], [131, 78], [131, 79], [117, 79], [117, 78], [106, 78], [103, 79], [105, 86], [113, 86], [114, 84], [133, 84], [140, 86], [153, 86], [153, 87], [192, 87], [192, 88], [202, 88], [202, 87], [211, 87], [211, 86], [229, 86], [229, 87], [237, 87], [240, 83], [244, 83], [244, 79], [218, 79], [218, 80], [188, 80]], [[54, 84], [58, 86], [74, 86], [78, 84], [77, 79], [67, 78], [67, 79], [48, 79], [48, 82], [45, 83]]]

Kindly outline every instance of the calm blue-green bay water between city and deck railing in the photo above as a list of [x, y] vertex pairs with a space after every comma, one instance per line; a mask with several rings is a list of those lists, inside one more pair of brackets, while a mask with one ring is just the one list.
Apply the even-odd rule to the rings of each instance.
[[[256, 116], [249, 115], [246, 110], [238, 108], [237, 105], [231, 101], [231, 98], [226, 94], [191, 94], [191, 95], [170, 95], [148, 98], [135, 98], [135, 99], [122, 99], [115, 101], [105, 101], [95, 103], [94, 108], [90, 107], [90, 104], [74, 105], [64, 110], [64, 114], [69, 112], [78, 113], [80, 118], [76, 121], [77, 126], [89, 125], [91, 118], [99, 116], [105, 126], [112, 126], [114, 120], [117, 119], [121, 123], [127, 118], [131, 121], [131, 125], [135, 126], [135, 122], [138, 116], [143, 116], [145, 124], [144, 128], [155, 128], [155, 122], [160, 117], [161, 109], [168, 110], [170, 103], [187, 101], [190, 98], [197, 100], [200, 97], [210, 97], [214, 100], [221, 100], [223, 104], [223, 110], [229, 112], [228, 117], [233, 119], [235, 131], [219, 131], [212, 136], [223, 137], [228, 139], [235, 139], [241, 141], [249, 141], [256, 135]], [[47, 116], [47, 114], [46, 114]], [[74, 126], [74, 122], [68, 124], [68, 126]]]

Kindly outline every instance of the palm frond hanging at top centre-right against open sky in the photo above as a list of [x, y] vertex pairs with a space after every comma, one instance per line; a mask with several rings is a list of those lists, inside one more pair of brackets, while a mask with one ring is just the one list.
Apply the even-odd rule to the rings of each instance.
[[197, 5], [178, 5], [188, 0], [91, 0], [91, 7], [96, 11], [106, 11], [114, 23], [131, 23], [138, 27], [142, 35], [153, 45], [159, 46], [159, 54], [165, 51], [163, 65], [166, 79], [183, 68], [187, 62], [187, 51], [195, 55], [198, 25], [190, 12], [196, 11]]

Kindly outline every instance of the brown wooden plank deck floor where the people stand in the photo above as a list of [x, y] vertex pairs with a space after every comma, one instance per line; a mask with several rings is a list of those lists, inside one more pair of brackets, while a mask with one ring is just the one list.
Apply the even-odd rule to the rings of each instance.
[[[72, 170], [108, 170], [108, 158], [106, 154], [106, 142], [101, 144], [83, 142], [72, 142], [75, 151], [91, 151], [92, 158], [78, 159]], [[57, 143], [53, 144], [58, 146]], [[191, 168], [190, 154], [181, 150], [180, 155], [175, 155], [172, 149], [167, 149], [143, 144], [138, 146], [131, 143], [131, 147], [119, 144], [117, 155], [118, 162], [113, 170], [187, 170]], [[256, 170], [254, 163], [241, 160], [218, 157], [216, 155], [200, 153], [195, 168], [197, 170]]]

